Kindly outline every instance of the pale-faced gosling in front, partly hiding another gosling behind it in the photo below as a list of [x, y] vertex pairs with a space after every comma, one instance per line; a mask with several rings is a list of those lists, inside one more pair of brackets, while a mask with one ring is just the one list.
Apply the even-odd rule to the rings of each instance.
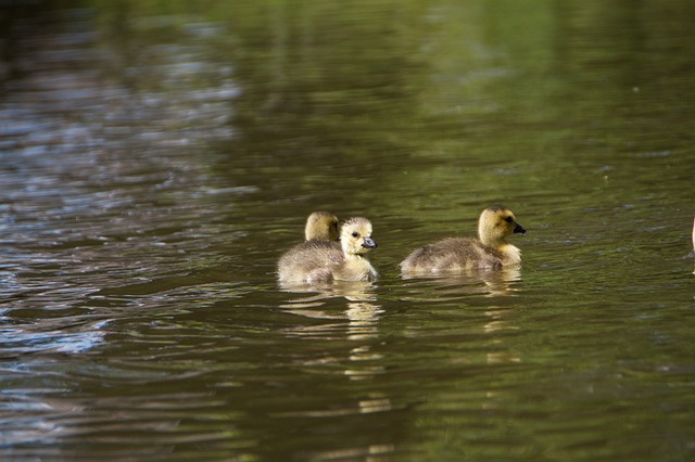
[[351, 218], [340, 228], [340, 243], [314, 239], [292, 247], [278, 261], [280, 283], [374, 281], [379, 274], [364, 256], [377, 247], [371, 231], [368, 219]]

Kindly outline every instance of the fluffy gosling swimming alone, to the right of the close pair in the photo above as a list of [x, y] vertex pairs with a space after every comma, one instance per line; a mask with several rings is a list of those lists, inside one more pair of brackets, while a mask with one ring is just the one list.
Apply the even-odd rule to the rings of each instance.
[[478, 238], [447, 238], [417, 248], [401, 261], [403, 274], [438, 274], [469, 269], [501, 269], [519, 266], [521, 251], [505, 238], [526, 233], [511, 210], [485, 208], [478, 220]]

